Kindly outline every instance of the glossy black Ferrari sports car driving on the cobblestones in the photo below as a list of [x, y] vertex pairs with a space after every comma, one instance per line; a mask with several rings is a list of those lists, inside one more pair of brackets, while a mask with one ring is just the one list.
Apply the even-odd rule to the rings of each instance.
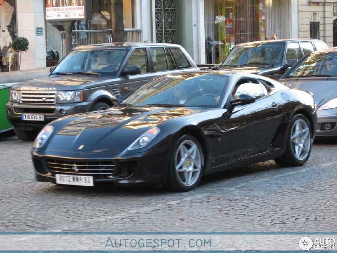
[[37, 136], [37, 181], [195, 188], [202, 175], [274, 159], [309, 158], [311, 94], [266, 77], [187, 72], [156, 78], [114, 107], [57, 119]]

